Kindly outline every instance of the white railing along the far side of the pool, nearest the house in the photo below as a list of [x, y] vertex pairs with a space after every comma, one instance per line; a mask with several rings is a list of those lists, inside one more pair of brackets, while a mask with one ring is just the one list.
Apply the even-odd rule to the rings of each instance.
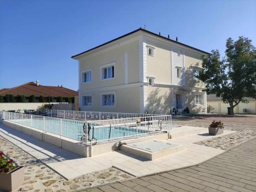
[[106, 119], [158, 116], [157, 114], [67, 111], [67, 110], [36, 110], [31, 112], [27, 111], [26, 113], [32, 114], [32, 115], [42, 115], [42, 116], [48, 116], [48, 117], [58, 117], [58, 118], [74, 119], [74, 120], [106, 120]]

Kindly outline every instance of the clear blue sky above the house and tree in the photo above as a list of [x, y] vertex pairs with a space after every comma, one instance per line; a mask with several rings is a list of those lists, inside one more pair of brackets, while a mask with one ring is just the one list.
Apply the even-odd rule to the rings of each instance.
[[256, 1], [0, 0], [0, 89], [29, 81], [78, 89], [72, 55], [146, 25], [210, 51], [256, 41]]

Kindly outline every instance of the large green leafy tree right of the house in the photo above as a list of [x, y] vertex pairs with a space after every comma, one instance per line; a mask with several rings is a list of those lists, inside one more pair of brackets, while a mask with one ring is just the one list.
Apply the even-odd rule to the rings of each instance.
[[256, 98], [256, 51], [251, 40], [243, 36], [237, 41], [228, 38], [226, 56], [221, 58], [219, 50], [202, 57], [203, 71], [198, 79], [205, 82], [205, 91], [216, 94], [224, 103], [229, 103], [230, 114], [245, 97]]

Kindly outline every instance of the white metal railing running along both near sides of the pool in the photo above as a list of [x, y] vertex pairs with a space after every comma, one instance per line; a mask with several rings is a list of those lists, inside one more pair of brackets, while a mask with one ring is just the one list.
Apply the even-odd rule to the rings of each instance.
[[172, 129], [172, 116], [170, 115], [81, 121], [3, 112], [3, 119], [87, 144], [121, 140], [128, 137], [138, 138]]

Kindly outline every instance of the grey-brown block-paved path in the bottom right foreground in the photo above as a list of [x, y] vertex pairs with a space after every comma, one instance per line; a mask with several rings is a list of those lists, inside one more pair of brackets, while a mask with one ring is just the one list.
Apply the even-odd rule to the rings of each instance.
[[85, 191], [256, 191], [256, 138], [206, 162]]

